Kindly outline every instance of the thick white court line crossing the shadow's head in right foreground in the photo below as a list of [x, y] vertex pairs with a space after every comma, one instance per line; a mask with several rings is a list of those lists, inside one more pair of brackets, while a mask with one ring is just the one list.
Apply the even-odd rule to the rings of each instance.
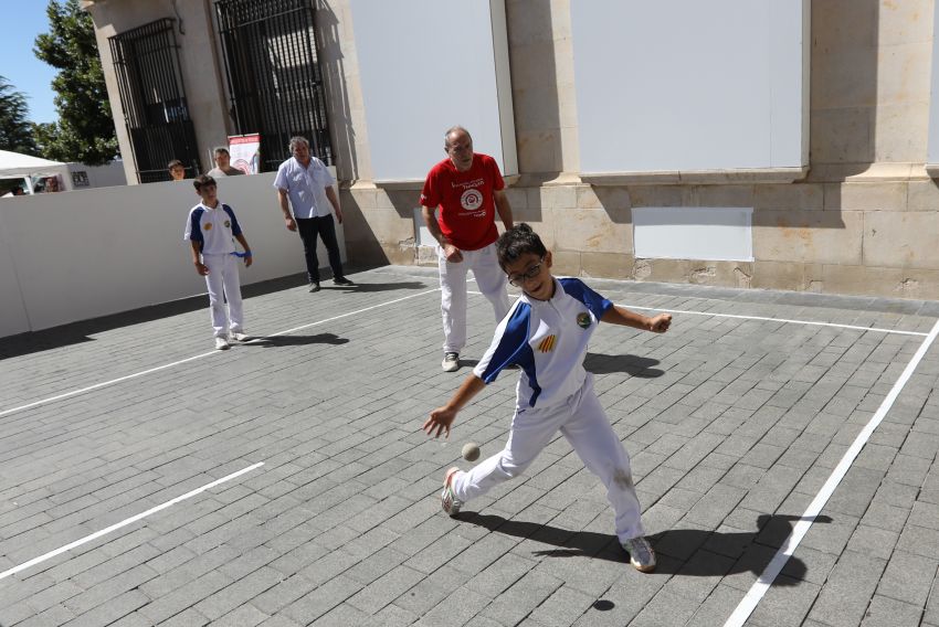
[[753, 609], [756, 609], [757, 604], [760, 603], [760, 599], [772, 585], [772, 582], [776, 580], [777, 575], [779, 575], [780, 571], [785, 565], [785, 562], [792, 556], [792, 553], [795, 552], [795, 548], [799, 546], [799, 543], [809, 531], [809, 528], [812, 527], [812, 522], [814, 522], [815, 517], [822, 511], [822, 508], [829, 501], [832, 493], [834, 493], [835, 488], [837, 488], [845, 474], [847, 474], [847, 470], [854, 463], [854, 458], [857, 457], [861, 449], [864, 448], [864, 445], [867, 444], [868, 439], [871, 439], [871, 435], [874, 433], [874, 429], [877, 428], [877, 425], [880, 424], [880, 421], [883, 421], [884, 416], [887, 415], [887, 412], [890, 411], [890, 407], [894, 405], [894, 401], [897, 400], [900, 391], [903, 391], [907, 381], [909, 381], [909, 378], [912, 376], [912, 372], [916, 370], [916, 366], [919, 365], [920, 360], [922, 360], [926, 351], [929, 350], [929, 347], [932, 344], [937, 334], [939, 334], [939, 321], [932, 326], [932, 330], [929, 331], [929, 334], [922, 341], [922, 344], [920, 344], [919, 350], [917, 350], [916, 354], [912, 355], [912, 360], [907, 364], [903, 374], [900, 374], [900, 378], [897, 379], [897, 382], [894, 383], [893, 389], [890, 389], [890, 392], [887, 394], [886, 398], [884, 398], [884, 402], [880, 403], [879, 407], [877, 407], [877, 411], [874, 413], [874, 417], [872, 417], [864, 428], [861, 429], [861, 433], [857, 434], [854, 443], [844, 454], [844, 457], [841, 458], [841, 461], [832, 471], [829, 480], [825, 481], [825, 485], [822, 486], [822, 489], [817, 495], [815, 495], [812, 502], [809, 503], [809, 508], [802, 514], [802, 519], [792, 528], [792, 532], [789, 534], [789, 538], [787, 538], [785, 542], [782, 543], [782, 546], [780, 546], [777, 554], [773, 555], [773, 559], [767, 565], [766, 570], [763, 570], [762, 574], [760, 574], [757, 582], [750, 587], [750, 591], [737, 606], [737, 609], [734, 610], [734, 614], [731, 614], [730, 618], [727, 619], [727, 623], [724, 624], [724, 627], [740, 627]]

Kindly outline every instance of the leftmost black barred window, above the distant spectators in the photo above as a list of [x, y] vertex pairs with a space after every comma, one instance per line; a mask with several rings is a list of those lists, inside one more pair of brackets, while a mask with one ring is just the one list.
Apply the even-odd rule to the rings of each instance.
[[175, 23], [163, 18], [108, 40], [141, 183], [170, 180], [167, 163], [172, 159], [183, 162], [188, 177], [200, 172]]

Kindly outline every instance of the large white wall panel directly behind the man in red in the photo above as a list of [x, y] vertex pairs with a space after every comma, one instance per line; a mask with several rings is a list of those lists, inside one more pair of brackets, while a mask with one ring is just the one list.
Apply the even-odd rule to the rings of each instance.
[[518, 172], [502, 0], [350, 0], [372, 177], [423, 180], [465, 126]]

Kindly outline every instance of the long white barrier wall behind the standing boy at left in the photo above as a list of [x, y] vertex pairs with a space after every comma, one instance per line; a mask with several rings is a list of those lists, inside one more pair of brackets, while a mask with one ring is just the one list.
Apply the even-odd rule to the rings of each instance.
[[[242, 285], [306, 269], [273, 182], [219, 180], [254, 254]], [[182, 240], [197, 202], [191, 180], [0, 199], [0, 337], [204, 294]], [[345, 261], [340, 225], [337, 237]]]

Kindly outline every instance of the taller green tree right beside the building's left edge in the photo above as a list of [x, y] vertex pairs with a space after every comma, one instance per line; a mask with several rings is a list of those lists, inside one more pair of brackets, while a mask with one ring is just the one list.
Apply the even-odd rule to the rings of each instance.
[[59, 121], [34, 126], [40, 152], [56, 161], [107, 163], [117, 156], [117, 137], [104, 83], [92, 17], [78, 0], [49, 0], [50, 32], [33, 52], [59, 70], [52, 81]]

